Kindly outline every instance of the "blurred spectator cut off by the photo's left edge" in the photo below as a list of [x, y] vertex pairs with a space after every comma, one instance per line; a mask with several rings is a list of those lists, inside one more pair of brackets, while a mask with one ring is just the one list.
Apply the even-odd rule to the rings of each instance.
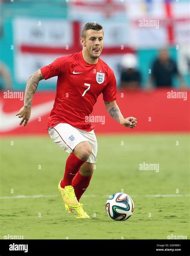
[[0, 90], [12, 89], [11, 74], [8, 67], [0, 62]]

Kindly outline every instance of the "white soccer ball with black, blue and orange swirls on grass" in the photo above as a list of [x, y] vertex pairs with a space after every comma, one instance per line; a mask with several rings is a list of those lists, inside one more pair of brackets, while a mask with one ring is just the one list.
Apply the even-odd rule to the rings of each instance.
[[105, 204], [107, 215], [114, 221], [126, 221], [134, 211], [132, 198], [125, 193], [115, 193], [107, 199]]

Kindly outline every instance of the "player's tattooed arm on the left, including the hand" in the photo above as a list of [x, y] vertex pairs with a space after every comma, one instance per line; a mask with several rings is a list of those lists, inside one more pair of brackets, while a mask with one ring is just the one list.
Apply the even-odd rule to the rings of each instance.
[[[20, 125], [24, 122], [23, 126], [26, 126], [31, 114], [32, 100], [34, 93], [38, 87], [38, 83], [44, 79], [40, 69], [32, 74], [27, 81], [26, 90], [24, 93], [24, 106], [16, 113], [18, 118], [22, 118]], [[25, 121], [24, 121], [25, 120]]]

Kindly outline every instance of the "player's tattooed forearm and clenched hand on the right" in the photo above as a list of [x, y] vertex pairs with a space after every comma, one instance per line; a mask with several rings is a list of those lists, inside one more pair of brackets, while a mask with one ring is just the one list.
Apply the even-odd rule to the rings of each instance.
[[134, 117], [123, 118], [121, 111], [116, 103], [116, 101], [104, 101], [105, 109], [109, 115], [114, 118], [117, 122], [124, 125], [125, 127], [134, 128], [137, 124], [137, 120]]

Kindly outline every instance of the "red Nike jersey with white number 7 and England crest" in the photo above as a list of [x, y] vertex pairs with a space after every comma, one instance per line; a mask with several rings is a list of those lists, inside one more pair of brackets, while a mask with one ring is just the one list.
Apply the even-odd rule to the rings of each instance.
[[89, 64], [83, 59], [81, 51], [57, 58], [40, 70], [45, 80], [58, 76], [57, 93], [47, 129], [67, 123], [89, 132], [95, 128], [88, 117], [97, 97], [103, 93], [104, 101], [116, 100], [115, 75], [100, 58], [97, 64]]

